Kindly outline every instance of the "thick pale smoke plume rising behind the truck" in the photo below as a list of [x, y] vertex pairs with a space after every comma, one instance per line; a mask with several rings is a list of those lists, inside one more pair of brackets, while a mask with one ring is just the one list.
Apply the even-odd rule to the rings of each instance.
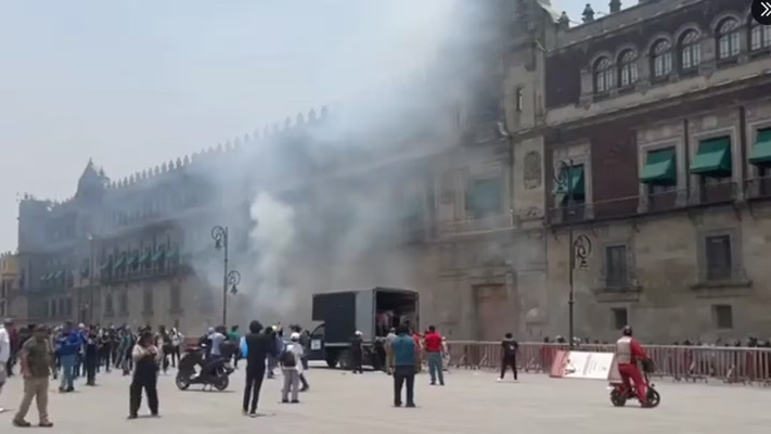
[[[355, 54], [403, 63], [399, 75], [367, 88], [337, 84], [345, 100], [329, 113], [260, 130], [224, 154], [227, 163], [196, 173], [242, 241], [231, 255], [243, 276], [234, 322], [307, 323], [313, 293], [410, 285], [425, 272], [404, 245], [436, 224], [436, 157], [458, 144], [487, 71], [477, 48], [491, 37], [480, 25], [489, 11], [461, 3], [394, 1], [382, 28], [371, 29], [378, 44]], [[216, 261], [194, 268], [211, 288], [221, 284]]]

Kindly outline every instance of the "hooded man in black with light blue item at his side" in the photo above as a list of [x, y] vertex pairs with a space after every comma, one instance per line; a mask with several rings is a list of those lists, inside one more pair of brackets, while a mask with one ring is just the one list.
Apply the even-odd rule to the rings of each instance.
[[246, 358], [246, 387], [244, 387], [244, 416], [257, 416], [259, 392], [265, 378], [265, 359], [269, 355], [278, 357], [274, 334], [261, 333], [262, 324], [254, 320], [249, 323], [249, 333], [244, 336], [242, 355]]

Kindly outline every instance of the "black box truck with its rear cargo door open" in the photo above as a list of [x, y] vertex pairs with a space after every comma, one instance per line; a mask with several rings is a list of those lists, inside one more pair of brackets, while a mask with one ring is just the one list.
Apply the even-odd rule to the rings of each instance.
[[419, 294], [395, 288], [372, 288], [313, 295], [313, 321], [321, 321], [310, 336], [310, 360], [324, 360], [330, 368], [350, 366], [350, 341], [357, 331], [364, 342], [364, 365], [385, 363], [380, 350], [391, 328], [419, 328]]

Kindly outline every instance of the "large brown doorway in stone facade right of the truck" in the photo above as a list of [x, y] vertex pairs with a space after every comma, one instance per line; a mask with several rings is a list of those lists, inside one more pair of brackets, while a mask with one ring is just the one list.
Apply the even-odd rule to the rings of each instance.
[[506, 288], [502, 284], [485, 284], [474, 286], [476, 303], [477, 339], [481, 341], [500, 341], [503, 335], [513, 332], [513, 312], [509, 309]]

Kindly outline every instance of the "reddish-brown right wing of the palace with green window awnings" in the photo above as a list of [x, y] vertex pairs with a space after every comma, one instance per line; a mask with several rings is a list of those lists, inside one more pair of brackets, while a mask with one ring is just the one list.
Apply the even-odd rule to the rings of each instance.
[[[548, 35], [548, 292], [576, 331], [609, 339], [771, 334], [771, 29], [731, 0], [645, 1]], [[565, 187], [569, 184], [569, 194]], [[556, 193], [556, 194], [552, 194]], [[556, 315], [552, 330], [567, 329]]]

